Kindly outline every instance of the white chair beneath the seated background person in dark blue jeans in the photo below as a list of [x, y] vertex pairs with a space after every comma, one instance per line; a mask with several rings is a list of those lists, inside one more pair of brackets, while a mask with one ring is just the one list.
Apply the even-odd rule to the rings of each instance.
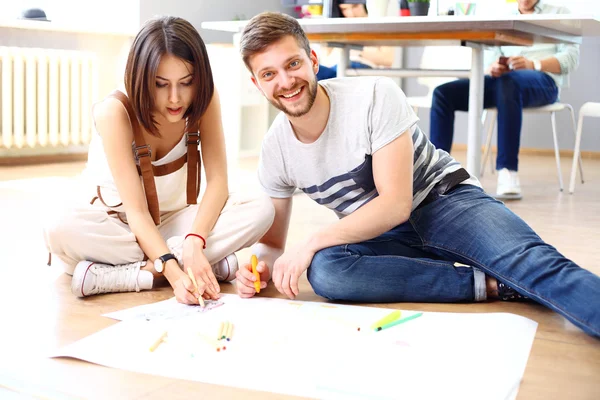
[[[570, 104], [567, 103], [553, 103], [553, 104], [548, 104], [546, 106], [541, 106], [541, 107], [530, 107], [530, 108], [524, 108], [523, 109], [523, 113], [527, 113], [527, 114], [532, 114], [532, 113], [549, 113], [550, 114], [550, 121], [552, 123], [552, 137], [554, 139], [554, 156], [556, 158], [556, 169], [558, 172], [558, 185], [560, 187], [560, 191], [563, 191], [563, 180], [562, 180], [562, 173], [560, 171], [560, 147], [558, 146], [558, 137], [556, 135], [556, 113], [560, 112], [560, 111], [565, 111], [568, 110], [569, 114], [571, 115], [571, 122], [573, 124], [573, 135], [575, 135], [575, 112], [573, 111], [573, 107]], [[487, 159], [490, 159], [490, 170], [492, 171], [492, 173], [494, 173], [494, 161], [493, 159], [490, 157], [490, 153], [491, 153], [491, 148], [492, 148], [492, 138], [494, 136], [494, 128], [496, 126], [496, 117], [497, 117], [497, 110], [495, 108], [490, 108], [487, 110], [488, 111], [488, 117], [491, 119], [489, 125], [488, 125], [488, 130], [487, 130], [487, 138], [486, 138], [486, 142], [485, 142], [485, 150], [484, 150], [484, 156], [483, 156], [483, 160], [481, 161], [481, 176], [483, 176], [484, 170], [485, 170], [485, 163], [487, 161]], [[581, 163], [581, 157], [579, 157], [579, 172], [581, 173], [581, 179], [583, 182], [583, 165]]]

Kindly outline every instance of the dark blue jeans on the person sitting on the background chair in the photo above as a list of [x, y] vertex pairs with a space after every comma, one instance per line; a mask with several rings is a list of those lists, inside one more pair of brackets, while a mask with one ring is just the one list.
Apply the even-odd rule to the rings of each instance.
[[[485, 77], [483, 108], [498, 109], [498, 156], [496, 169], [518, 171], [523, 108], [554, 103], [558, 88], [543, 72], [511, 71], [499, 78]], [[469, 80], [438, 86], [433, 92], [430, 118], [431, 142], [450, 152], [454, 137], [454, 112], [469, 110]]]

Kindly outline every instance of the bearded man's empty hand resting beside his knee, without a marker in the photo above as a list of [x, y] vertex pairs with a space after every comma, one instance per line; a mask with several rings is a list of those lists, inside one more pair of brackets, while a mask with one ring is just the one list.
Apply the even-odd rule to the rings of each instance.
[[305, 245], [286, 251], [275, 261], [273, 283], [277, 290], [294, 299], [299, 293], [298, 278], [310, 266], [315, 253]]

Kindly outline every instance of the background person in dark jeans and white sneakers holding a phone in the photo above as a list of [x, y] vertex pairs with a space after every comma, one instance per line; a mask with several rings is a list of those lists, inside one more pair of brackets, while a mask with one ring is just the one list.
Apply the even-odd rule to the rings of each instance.
[[[568, 14], [564, 7], [543, 0], [517, 0], [520, 14]], [[558, 101], [566, 76], [579, 64], [575, 44], [502, 46], [486, 51], [483, 107], [498, 109], [496, 170], [499, 199], [521, 199], [517, 175], [523, 108]], [[469, 80], [438, 86], [431, 106], [431, 135], [435, 147], [450, 152], [454, 136], [454, 112], [468, 111]]]

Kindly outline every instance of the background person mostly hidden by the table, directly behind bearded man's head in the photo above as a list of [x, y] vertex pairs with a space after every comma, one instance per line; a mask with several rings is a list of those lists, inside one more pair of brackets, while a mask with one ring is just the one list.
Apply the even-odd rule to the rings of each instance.
[[[344, 18], [366, 18], [369, 16], [367, 6], [364, 4], [345, 3], [344, 0], [339, 1], [340, 12]], [[323, 58], [333, 58], [331, 47], [322, 47]], [[336, 60], [339, 57], [336, 56]], [[350, 50], [350, 68], [390, 68], [394, 61], [394, 49], [392, 47], [363, 47], [362, 51]], [[326, 67], [319, 65], [317, 80], [331, 79], [337, 77], [337, 65]]]

